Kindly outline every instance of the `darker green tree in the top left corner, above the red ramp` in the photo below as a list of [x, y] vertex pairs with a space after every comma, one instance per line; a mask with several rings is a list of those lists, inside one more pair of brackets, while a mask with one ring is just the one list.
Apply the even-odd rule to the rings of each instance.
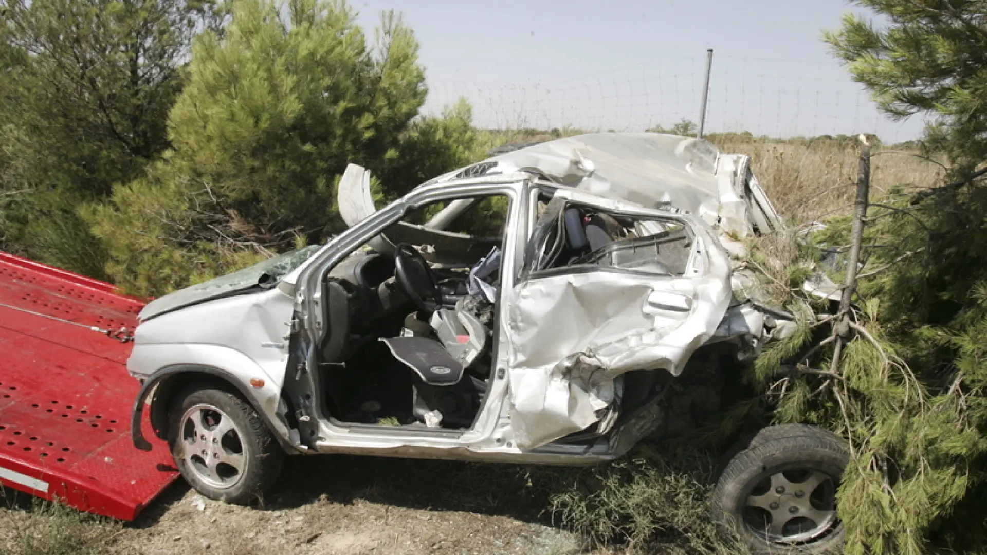
[[75, 207], [167, 146], [183, 56], [220, 18], [186, 0], [2, 0], [0, 14], [0, 248], [100, 276]]

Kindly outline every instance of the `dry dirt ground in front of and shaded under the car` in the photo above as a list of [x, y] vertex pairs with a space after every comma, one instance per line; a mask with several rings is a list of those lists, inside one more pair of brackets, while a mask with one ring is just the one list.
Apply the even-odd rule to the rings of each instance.
[[[290, 457], [257, 507], [206, 500], [180, 480], [133, 522], [86, 525], [110, 528], [92, 552], [111, 554], [609, 553], [582, 549], [577, 536], [542, 514], [528, 489], [523, 472], [507, 465]], [[0, 545], [3, 530], [53, 517], [18, 497], [0, 509]]]

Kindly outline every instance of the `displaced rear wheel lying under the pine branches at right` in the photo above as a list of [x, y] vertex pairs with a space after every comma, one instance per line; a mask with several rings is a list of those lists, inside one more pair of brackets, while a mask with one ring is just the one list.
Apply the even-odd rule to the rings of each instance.
[[844, 527], [836, 488], [846, 442], [812, 426], [762, 430], [726, 464], [713, 492], [713, 518], [752, 553], [838, 552]]

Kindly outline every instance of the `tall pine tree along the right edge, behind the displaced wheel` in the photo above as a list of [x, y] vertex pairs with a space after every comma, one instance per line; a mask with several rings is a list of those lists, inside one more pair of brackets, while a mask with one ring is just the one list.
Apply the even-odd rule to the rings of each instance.
[[[797, 334], [758, 361], [754, 378], [780, 398], [779, 419], [850, 441], [838, 497], [848, 552], [975, 551], [987, 527], [987, 170], [977, 169], [987, 156], [987, 4], [856, 3], [886, 23], [847, 16], [826, 40], [886, 114], [935, 118], [924, 148], [951, 161], [954, 181], [874, 203], [859, 220], [849, 329], [807, 352], [811, 335]], [[852, 243], [838, 222], [825, 235]]]

